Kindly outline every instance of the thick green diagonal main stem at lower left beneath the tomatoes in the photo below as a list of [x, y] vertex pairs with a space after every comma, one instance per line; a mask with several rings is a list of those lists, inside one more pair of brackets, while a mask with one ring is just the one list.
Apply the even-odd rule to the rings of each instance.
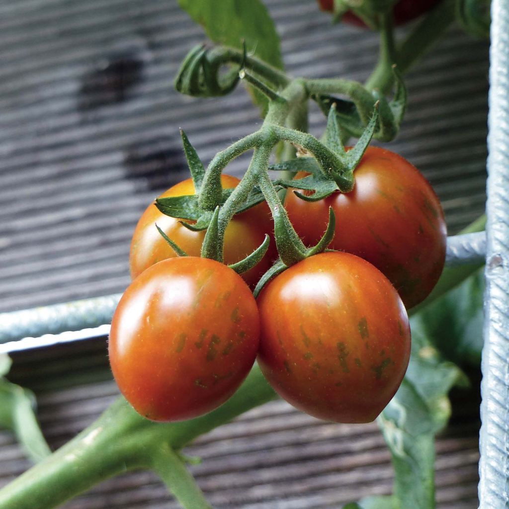
[[119, 398], [78, 436], [0, 490], [0, 509], [52, 509], [108, 477], [139, 468], [154, 468], [172, 489], [177, 483], [191, 490], [181, 471], [164, 469], [162, 457], [154, 460], [154, 450], [178, 450], [274, 398], [258, 366], [227, 403], [189, 421], [152, 422]]

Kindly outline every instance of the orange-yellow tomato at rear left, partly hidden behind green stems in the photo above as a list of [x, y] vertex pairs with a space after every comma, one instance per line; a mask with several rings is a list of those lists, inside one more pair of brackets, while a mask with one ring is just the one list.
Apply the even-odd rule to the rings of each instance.
[[[221, 182], [224, 188], [232, 188], [239, 183], [239, 179], [223, 175]], [[162, 193], [160, 197], [186, 194], [194, 194], [192, 179], [176, 184]], [[154, 204], [151, 204], [140, 217], [131, 241], [129, 267], [133, 279], [147, 267], [166, 258], [177, 256], [159, 234], [155, 223], [189, 256], [200, 256], [205, 231], [192, 232], [182, 226], [179, 219], [164, 215]], [[230, 265], [239, 262], [262, 244], [266, 233], [272, 236], [272, 231], [272, 219], [266, 203], [252, 207], [242, 214], [237, 214], [225, 231], [224, 263]], [[276, 257], [275, 242], [271, 238], [269, 250], [262, 261], [256, 267], [242, 274], [251, 288], [257, 284], [261, 275], [267, 271]]]

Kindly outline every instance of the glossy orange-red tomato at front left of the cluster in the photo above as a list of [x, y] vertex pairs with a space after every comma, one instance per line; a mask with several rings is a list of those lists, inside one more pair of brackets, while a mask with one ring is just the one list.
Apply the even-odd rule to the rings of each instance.
[[111, 322], [109, 360], [127, 401], [156, 421], [221, 405], [248, 374], [259, 345], [256, 301], [214, 260], [163, 260], [140, 274]]

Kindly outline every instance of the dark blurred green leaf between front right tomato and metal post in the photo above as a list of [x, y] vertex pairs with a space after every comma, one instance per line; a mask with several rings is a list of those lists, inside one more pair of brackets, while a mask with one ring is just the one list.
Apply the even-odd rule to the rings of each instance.
[[411, 319], [412, 330], [425, 334], [448, 359], [479, 365], [483, 348], [484, 269], [423, 308]]

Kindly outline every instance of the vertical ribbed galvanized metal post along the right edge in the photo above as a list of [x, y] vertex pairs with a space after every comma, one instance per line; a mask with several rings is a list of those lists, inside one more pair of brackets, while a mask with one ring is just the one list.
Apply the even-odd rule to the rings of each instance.
[[509, 2], [493, 0], [479, 507], [509, 507]]

